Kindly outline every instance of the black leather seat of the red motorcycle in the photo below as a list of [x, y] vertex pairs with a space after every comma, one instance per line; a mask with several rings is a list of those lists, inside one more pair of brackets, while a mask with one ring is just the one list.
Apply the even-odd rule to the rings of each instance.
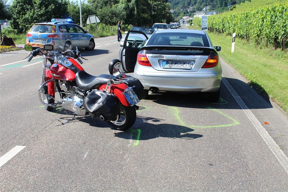
[[103, 83], [107, 83], [111, 75], [101, 74], [99, 76], [93, 76], [85, 71], [78, 71], [76, 73], [76, 83], [80, 89], [84, 91], [88, 91], [91, 89], [95, 89], [99, 85]]

